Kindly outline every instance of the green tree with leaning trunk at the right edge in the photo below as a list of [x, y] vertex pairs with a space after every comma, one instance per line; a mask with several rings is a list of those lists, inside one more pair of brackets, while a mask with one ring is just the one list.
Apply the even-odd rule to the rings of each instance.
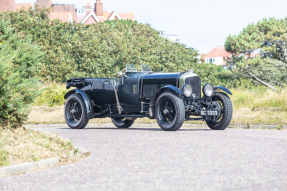
[[[276, 90], [274, 85], [287, 84], [286, 43], [287, 18], [264, 18], [256, 25], [248, 25], [237, 36], [229, 35], [225, 49], [233, 55], [237, 76], [251, 78]], [[260, 57], [252, 57], [254, 51], [260, 51]]]

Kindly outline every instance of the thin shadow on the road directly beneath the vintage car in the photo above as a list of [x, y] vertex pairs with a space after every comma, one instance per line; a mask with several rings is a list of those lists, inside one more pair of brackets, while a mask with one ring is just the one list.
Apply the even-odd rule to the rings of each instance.
[[[69, 129], [69, 130], [77, 130], [77, 129], [70, 129], [70, 128], [58, 128], [58, 129]], [[80, 130], [91, 130], [91, 129], [98, 129], [98, 130], [124, 130], [124, 131], [163, 131], [161, 128], [115, 128], [115, 127], [86, 127]], [[211, 131], [211, 129], [179, 129], [177, 131]], [[168, 132], [168, 131], [166, 131]]]

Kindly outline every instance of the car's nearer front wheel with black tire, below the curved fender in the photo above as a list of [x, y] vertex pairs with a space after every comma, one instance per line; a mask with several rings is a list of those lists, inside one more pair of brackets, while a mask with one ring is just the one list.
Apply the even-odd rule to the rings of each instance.
[[155, 114], [158, 125], [165, 131], [178, 130], [185, 120], [185, 109], [181, 98], [165, 92], [155, 104]]

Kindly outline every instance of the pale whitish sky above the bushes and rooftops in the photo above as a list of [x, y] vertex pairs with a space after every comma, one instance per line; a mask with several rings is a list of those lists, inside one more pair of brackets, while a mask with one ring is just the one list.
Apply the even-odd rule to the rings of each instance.
[[[15, 0], [33, 3], [36, 0]], [[96, 0], [52, 0], [81, 8]], [[287, 17], [287, 0], [102, 0], [104, 9], [134, 13], [140, 23], [175, 34], [180, 43], [207, 54], [224, 45], [229, 34], [237, 35], [250, 23], [267, 17]]]

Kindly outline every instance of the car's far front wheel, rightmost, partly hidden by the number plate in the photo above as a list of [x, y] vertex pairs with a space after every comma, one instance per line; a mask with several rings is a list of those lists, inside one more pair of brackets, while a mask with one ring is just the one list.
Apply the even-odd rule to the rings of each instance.
[[232, 119], [232, 102], [229, 96], [223, 92], [216, 92], [212, 97], [212, 101], [217, 101], [220, 104], [221, 114], [212, 121], [206, 121], [206, 124], [210, 129], [224, 130], [228, 127]]

